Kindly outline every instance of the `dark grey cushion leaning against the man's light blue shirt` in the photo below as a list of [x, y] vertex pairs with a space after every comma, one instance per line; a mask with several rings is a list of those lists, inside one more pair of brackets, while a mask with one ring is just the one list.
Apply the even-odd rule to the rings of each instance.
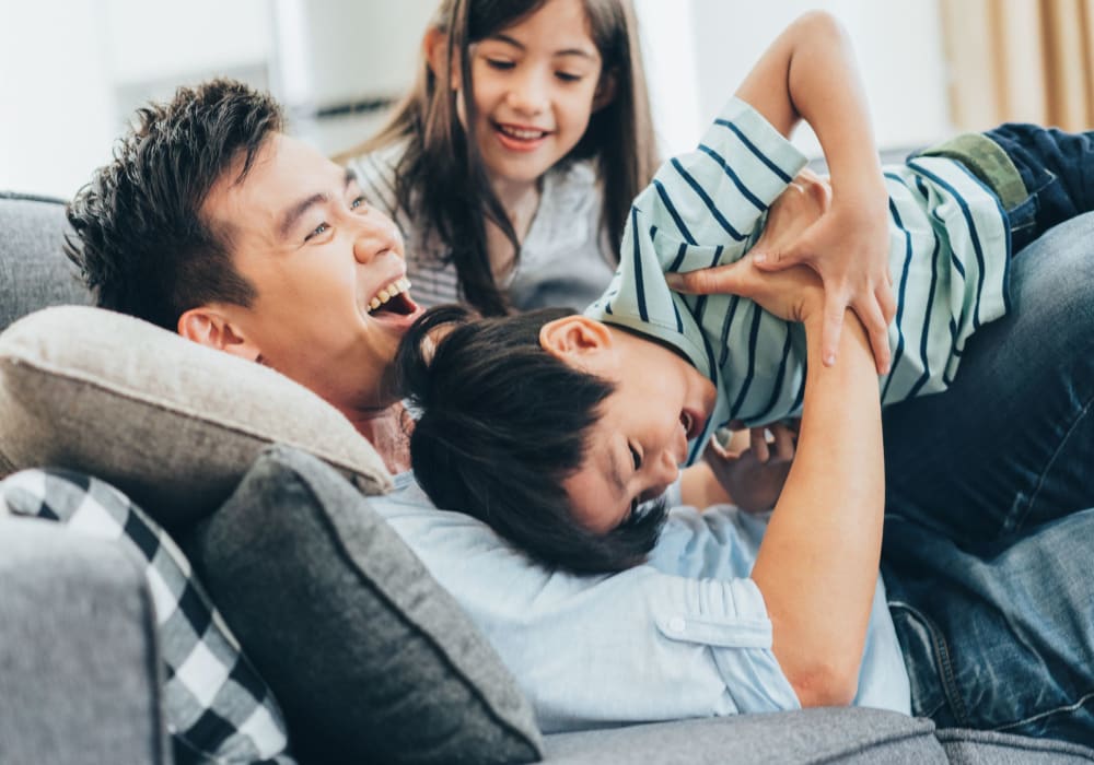
[[531, 705], [455, 601], [328, 466], [272, 447], [184, 542], [302, 762], [521, 763]]

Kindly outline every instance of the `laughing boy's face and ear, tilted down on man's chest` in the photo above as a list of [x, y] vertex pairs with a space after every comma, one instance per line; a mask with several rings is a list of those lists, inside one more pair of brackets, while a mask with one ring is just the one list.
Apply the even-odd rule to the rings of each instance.
[[[578, 325], [569, 334], [548, 331], [567, 321]], [[688, 440], [713, 410], [714, 386], [673, 351], [624, 330], [584, 317], [551, 325], [540, 334], [548, 351], [616, 386], [590, 429], [584, 462], [565, 483], [574, 519], [606, 533], [679, 475]]]

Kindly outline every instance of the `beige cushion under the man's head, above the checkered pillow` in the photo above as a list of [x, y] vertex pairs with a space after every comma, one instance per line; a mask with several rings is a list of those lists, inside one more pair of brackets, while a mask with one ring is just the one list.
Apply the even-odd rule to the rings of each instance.
[[100, 308], [63, 306], [0, 334], [0, 478], [56, 466], [117, 486], [168, 529], [218, 507], [271, 443], [358, 489], [391, 475], [340, 412], [266, 367]]

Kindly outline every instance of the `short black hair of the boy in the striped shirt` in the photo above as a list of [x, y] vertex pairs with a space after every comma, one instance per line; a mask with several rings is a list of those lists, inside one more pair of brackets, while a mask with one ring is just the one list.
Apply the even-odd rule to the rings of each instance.
[[571, 515], [562, 482], [584, 460], [614, 390], [539, 345], [539, 329], [572, 313], [474, 319], [461, 306], [432, 308], [403, 339], [396, 386], [419, 410], [410, 456], [433, 504], [486, 521], [546, 565], [622, 570], [645, 560], [665, 511], [655, 506], [600, 536]]

